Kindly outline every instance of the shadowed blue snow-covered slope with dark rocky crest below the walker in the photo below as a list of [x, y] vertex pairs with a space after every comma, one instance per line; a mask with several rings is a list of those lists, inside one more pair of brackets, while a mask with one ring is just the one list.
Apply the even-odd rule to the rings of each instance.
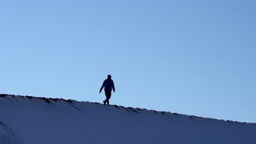
[[0, 143], [256, 143], [256, 124], [0, 94]]

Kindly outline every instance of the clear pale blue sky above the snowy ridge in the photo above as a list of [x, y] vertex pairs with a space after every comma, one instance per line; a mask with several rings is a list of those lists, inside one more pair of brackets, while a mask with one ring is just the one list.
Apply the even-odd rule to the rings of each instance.
[[0, 93], [256, 123], [255, 1], [1, 1]]

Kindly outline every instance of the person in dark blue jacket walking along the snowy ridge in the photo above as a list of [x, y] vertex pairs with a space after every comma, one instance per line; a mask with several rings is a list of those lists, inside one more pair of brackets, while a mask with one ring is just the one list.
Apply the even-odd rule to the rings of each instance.
[[104, 105], [109, 105], [109, 99], [111, 97], [111, 91], [113, 88], [113, 92], [115, 92], [115, 85], [114, 85], [114, 81], [111, 79], [111, 75], [108, 75], [108, 79], [104, 80], [101, 89], [100, 89], [100, 93], [102, 91], [102, 89], [104, 88], [105, 91], [105, 95], [106, 95], [106, 100], [103, 100]]

